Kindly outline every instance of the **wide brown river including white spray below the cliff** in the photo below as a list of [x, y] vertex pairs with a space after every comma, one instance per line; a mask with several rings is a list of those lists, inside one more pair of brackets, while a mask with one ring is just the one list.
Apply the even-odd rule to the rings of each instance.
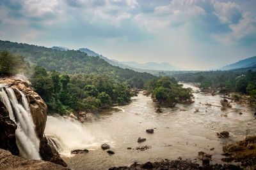
[[[189, 84], [184, 87], [198, 90]], [[256, 135], [255, 110], [232, 103], [232, 110], [221, 111], [220, 96], [201, 93], [194, 93], [194, 96], [193, 104], [177, 104], [175, 108], [164, 108], [163, 113], [156, 113], [150, 97], [140, 93], [132, 98], [131, 104], [117, 107], [120, 111], [102, 113], [93, 123], [80, 124], [61, 117], [48, 117], [45, 134], [58, 143], [58, 151], [71, 169], [108, 169], [129, 166], [135, 161], [178, 157], [196, 161], [200, 151], [213, 154], [212, 162], [221, 162], [223, 145], [246, 135]], [[199, 112], [194, 113], [196, 109]], [[224, 114], [227, 117], [221, 117]], [[145, 132], [153, 128], [156, 128], [154, 134]], [[220, 131], [230, 132], [230, 138], [217, 138], [216, 132]], [[147, 141], [137, 143], [138, 137], [147, 138]], [[115, 154], [109, 155], [102, 150], [102, 143], [108, 143]], [[127, 147], [145, 145], [152, 148], [127, 150]], [[89, 153], [70, 155], [71, 150], [83, 148]]]

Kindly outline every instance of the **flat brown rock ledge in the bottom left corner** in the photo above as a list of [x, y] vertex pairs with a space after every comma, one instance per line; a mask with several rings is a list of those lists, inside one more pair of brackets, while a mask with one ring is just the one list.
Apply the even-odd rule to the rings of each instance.
[[44, 160], [34, 160], [34, 159], [24, 159], [12, 155], [8, 150], [0, 149], [0, 169], [56, 169], [56, 170], [65, 170], [68, 169], [58, 164], [52, 162], [47, 162]]

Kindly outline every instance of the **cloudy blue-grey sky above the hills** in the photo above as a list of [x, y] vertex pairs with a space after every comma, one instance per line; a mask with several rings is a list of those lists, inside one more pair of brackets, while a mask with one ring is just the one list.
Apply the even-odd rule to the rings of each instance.
[[0, 0], [0, 39], [205, 70], [256, 55], [255, 0]]

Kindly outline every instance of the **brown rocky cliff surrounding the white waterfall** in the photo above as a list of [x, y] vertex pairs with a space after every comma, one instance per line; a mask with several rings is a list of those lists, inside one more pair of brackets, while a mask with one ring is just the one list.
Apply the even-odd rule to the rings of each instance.
[[[0, 83], [13, 89], [17, 100], [21, 103], [22, 96], [17, 89], [19, 89], [24, 96], [26, 96], [31, 111], [31, 116], [35, 124], [35, 131], [40, 139], [40, 156], [43, 160], [51, 161], [62, 166], [67, 166], [61, 159], [59, 153], [55, 150], [51, 143], [48, 143], [44, 136], [44, 129], [47, 120], [47, 105], [43, 99], [31, 89], [31, 83], [26, 80], [17, 78], [0, 78]], [[8, 110], [0, 101], [0, 148], [9, 150], [13, 155], [19, 155], [19, 149], [16, 145], [15, 129], [17, 125], [13, 122], [8, 114]]]

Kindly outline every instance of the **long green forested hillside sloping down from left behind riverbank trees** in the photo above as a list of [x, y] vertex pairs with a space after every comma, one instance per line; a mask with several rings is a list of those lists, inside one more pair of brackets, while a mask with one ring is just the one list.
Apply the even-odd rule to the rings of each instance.
[[106, 75], [120, 82], [134, 77], [140, 78], [143, 81], [155, 78], [155, 76], [149, 73], [139, 73], [131, 69], [112, 66], [99, 57], [90, 57], [79, 50], [53, 50], [44, 46], [0, 40], [0, 51], [4, 50], [15, 55], [24, 56], [31, 66], [38, 65], [45, 67], [47, 70], [54, 69], [67, 74], [85, 73]]

